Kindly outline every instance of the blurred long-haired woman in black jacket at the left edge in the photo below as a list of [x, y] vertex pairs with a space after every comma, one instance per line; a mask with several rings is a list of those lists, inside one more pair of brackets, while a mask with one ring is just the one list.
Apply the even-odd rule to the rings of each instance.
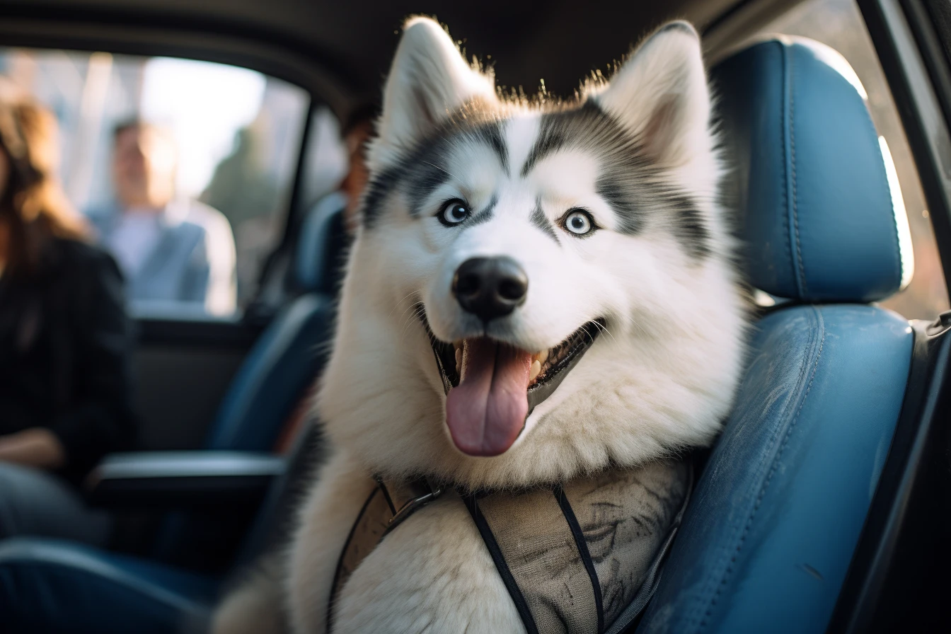
[[131, 322], [113, 260], [55, 180], [56, 122], [0, 78], [0, 538], [95, 545], [78, 483], [130, 446]]

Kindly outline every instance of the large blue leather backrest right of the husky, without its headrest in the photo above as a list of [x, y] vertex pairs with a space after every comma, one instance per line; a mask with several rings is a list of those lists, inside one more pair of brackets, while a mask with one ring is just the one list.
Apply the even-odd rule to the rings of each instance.
[[755, 325], [710, 454], [638, 632], [823, 632], [902, 407], [908, 323], [798, 306]]

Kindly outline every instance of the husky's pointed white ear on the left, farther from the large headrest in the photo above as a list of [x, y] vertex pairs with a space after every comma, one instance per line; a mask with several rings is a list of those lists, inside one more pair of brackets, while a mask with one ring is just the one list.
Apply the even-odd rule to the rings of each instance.
[[466, 102], [496, 101], [495, 83], [466, 64], [437, 22], [411, 18], [403, 27], [383, 93], [372, 161], [386, 163]]

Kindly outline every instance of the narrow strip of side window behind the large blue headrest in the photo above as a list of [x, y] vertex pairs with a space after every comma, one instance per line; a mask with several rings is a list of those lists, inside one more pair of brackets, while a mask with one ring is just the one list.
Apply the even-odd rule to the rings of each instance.
[[[901, 185], [896, 202], [903, 200], [915, 253], [914, 278], [901, 293], [882, 304], [909, 319], [936, 317], [948, 309], [938, 245], [898, 110], [855, 0], [807, 0], [768, 24], [760, 35], [767, 33], [800, 35], [835, 48], [859, 76], [879, 141], [886, 150], [889, 176], [897, 177]], [[893, 164], [888, 164], [888, 154]]]

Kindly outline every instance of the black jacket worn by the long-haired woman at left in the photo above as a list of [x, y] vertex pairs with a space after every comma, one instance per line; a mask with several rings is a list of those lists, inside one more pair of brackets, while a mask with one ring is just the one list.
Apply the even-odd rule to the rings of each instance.
[[61, 475], [78, 482], [133, 439], [122, 275], [95, 247], [52, 240], [40, 271], [9, 278], [0, 278], [0, 435], [49, 428], [66, 450]]

